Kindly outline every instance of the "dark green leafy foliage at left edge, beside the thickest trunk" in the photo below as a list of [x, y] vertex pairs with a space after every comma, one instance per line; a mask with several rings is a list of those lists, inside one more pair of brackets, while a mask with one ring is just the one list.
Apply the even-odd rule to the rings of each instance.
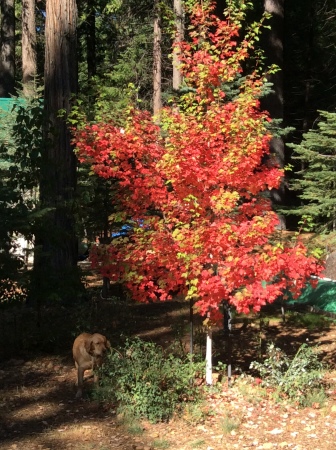
[[33, 235], [43, 120], [39, 98], [18, 97], [11, 105], [9, 111], [0, 109], [0, 279], [8, 280], [0, 295], [8, 300], [27, 282], [21, 270], [24, 260], [13, 253], [13, 238], [22, 235], [30, 240]]

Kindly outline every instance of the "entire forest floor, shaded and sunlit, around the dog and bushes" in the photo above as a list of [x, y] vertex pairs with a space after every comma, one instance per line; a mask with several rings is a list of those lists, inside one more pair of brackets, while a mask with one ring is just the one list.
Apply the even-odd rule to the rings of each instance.
[[[117, 341], [124, 328], [130, 334], [169, 345], [188, 325], [183, 302], [124, 305], [99, 296], [83, 308], [46, 308], [43, 312], [44, 348], [31, 331], [33, 318], [16, 310], [0, 320], [0, 449], [17, 450], [332, 450], [336, 441], [336, 323], [323, 321], [315, 329], [282, 323], [274, 317], [262, 332], [253, 322], [233, 337], [233, 381], [216, 383], [205, 401], [168, 423], [126, 422], [111, 406], [75, 399], [76, 372], [71, 342], [80, 331], [95, 330]], [[89, 309], [88, 309], [89, 308]], [[111, 314], [112, 310], [112, 314]], [[89, 311], [89, 312], [88, 312]], [[5, 317], [6, 316], [6, 317]], [[322, 325], [323, 326], [322, 326]], [[72, 327], [72, 328], [71, 328]], [[56, 331], [55, 331], [56, 330]], [[13, 338], [14, 336], [14, 338]], [[11, 339], [14, 339], [11, 341]], [[183, 336], [188, 344], [188, 335]], [[299, 408], [275, 402], [248, 373], [258, 359], [262, 342], [272, 341], [293, 354], [301, 343], [318, 345], [329, 365], [327, 399], [322, 406]], [[197, 340], [196, 340], [197, 343]], [[225, 343], [214, 336], [215, 357]], [[91, 381], [87, 382], [90, 390]], [[205, 389], [203, 386], [202, 389]]]

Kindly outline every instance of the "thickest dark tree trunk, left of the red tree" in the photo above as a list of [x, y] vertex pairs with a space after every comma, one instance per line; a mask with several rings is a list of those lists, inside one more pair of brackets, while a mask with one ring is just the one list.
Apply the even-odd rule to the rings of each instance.
[[[38, 283], [62, 299], [73, 298], [78, 241], [72, 213], [76, 158], [66, 123], [71, 97], [77, 92], [77, 7], [75, 0], [47, 0], [45, 25], [44, 108], [46, 149], [41, 175], [45, 211], [36, 243]], [[71, 274], [73, 277], [70, 279]], [[68, 280], [66, 279], [68, 277]], [[47, 283], [46, 280], [49, 280]]]

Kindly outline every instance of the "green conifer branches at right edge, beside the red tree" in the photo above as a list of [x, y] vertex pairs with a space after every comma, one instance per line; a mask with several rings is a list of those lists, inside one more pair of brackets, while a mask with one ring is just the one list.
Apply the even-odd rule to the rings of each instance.
[[303, 218], [307, 231], [329, 232], [336, 223], [336, 113], [320, 111], [317, 128], [304, 134], [300, 144], [289, 146], [293, 160], [301, 164], [292, 187], [302, 200], [290, 213]]

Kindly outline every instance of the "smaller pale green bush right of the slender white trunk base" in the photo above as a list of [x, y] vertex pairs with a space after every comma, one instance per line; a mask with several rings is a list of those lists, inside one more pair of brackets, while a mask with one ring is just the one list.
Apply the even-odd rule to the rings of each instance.
[[268, 357], [263, 362], [253, 361], [262, 378], [262, 386], [275, 388], [280, 397], [289, 398], [301, 406], [306, 399], [323, 389], [322, 378], [325, 367], [318, 359], [316, 350], [307, 344], [301, 345], [293, 359], [290, 359], [274, 343], [267, 346]]

